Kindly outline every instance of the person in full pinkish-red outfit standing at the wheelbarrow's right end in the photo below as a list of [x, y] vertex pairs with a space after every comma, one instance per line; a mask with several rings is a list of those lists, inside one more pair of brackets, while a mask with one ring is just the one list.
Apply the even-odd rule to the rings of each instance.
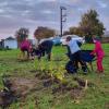
[[95, 55], [97, 57], [97, 73], [104, 73], [104, 66], [102, 66], [102, 59], [105, 57], [105, 51], [101, 47], [101, 43], [99, 41], [99, 39], [94, 38], [94, 44], [95, 44], [95, 49], [93, 50], [93, 52], [90, 55]]

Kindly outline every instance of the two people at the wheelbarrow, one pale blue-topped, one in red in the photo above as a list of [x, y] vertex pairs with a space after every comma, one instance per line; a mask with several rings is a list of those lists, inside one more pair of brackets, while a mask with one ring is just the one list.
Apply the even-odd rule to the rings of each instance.
[[[80, 62], [84, 74], [86, 74], [87, 65], [86, 65], [86, 62], [84, 60], [82, 60], [82, 50], [78, 46], [78, 40], [74, 40], [71, 37], [68, 37], [66, 41], [68, 41], [68, 50], [69, 50], [68, 55], [71, 60], [69, 63], [72, 63], [75, 66], [75, 69], [73, 69], [73, 72], [77, 72], [77, 69], [78, 69], [77, 63]], [[89, 56], [90, 57], [96, 56], [96, 60], [97, 60], [96, 61], [96, 63], [97, 63], [96, 72], [102, 74], [102, 72], [104, 72], [102, 59], [105, 57], [105, 51], [101, 47], [101, 43], [100, 43], [99, 38], [97, 38], [95, 35], [93, 36], [93, 41], [95, 44], [95, 49], [90, 51]]]

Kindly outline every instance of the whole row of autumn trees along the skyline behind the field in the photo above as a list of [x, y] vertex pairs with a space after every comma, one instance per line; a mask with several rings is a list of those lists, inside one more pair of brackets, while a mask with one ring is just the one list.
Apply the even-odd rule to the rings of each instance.
[[[98, 13], [96, 10], [88, 10], [86, 13], [82, 15], [82, 20], [78, 23], [78, 26], [72, 26], [68, 32], [63, 32], [63, 35], [78, 35], [85, 36], [87, 41], [92, 41], [92, 36], [97, 35], [101, 37], [104, 35], [104, 24], [98, 19]], [[28, 28], [20, 28], [16, 31], [15, 36], [17, 41], [22, 41], [24, 38], [28, 37], [29, 31]], [[39, 26], [34, 32], [34, 37], [37, 39], [49, 38], [56, 35], [56, 31], [49, 27]]]

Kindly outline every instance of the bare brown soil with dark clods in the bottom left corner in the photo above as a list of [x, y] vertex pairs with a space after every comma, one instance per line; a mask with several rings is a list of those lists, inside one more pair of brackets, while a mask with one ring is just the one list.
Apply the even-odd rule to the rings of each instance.
[[0, 92], [0, 106], [5, 108], [17, 98], [25, 96], [33, 90], [40, 88], [39, 80], [24, 77], [8, 77], [3, 78], [4, 89]]

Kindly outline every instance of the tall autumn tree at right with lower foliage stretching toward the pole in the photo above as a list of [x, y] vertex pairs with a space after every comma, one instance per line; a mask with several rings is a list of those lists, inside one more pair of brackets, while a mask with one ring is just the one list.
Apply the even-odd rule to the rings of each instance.
[[82, 21], [77, 27], [70, 27], [69, 33], [78, 36], [86, 36], [87, 41], [92, 41], [92, 36], [102, 36], [105, 27], [98, 19], [98, 13], [95, 10], [89, 10], [82, 15]]

